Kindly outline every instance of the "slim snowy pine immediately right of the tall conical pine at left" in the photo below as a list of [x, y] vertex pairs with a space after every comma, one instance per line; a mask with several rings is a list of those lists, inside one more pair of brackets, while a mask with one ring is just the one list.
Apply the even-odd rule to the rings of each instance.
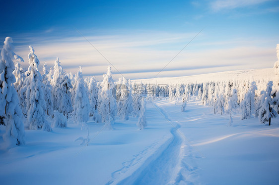
[[44, 74], [42, 75], [43, 78], [43, 92], [45, 95], [45, 101], [46, 101], [46, 114], [49, 116], [53, 116], [53, 100], [52, 100], [52, 86], [50, 85], [49, 77], [48, 77], [48, 70], [47, 70], [47, 63], [44, 63], [43, 66], [43, 72]]

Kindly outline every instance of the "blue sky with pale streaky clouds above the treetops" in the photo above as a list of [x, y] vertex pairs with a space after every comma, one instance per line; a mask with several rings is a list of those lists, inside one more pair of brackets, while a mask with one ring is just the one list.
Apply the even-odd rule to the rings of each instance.
[[[28, 66], [28, 46], [53, 66], [101, 79], [109, 63], [124, 76], [186, 76], [271, 68], [279, 43], [278, 0], [1, 1], [0, 40], [13, 38]], [[76, 30], [77, 29], [77, 30]], [[118, 71], [112, 67], [114, 77]]]

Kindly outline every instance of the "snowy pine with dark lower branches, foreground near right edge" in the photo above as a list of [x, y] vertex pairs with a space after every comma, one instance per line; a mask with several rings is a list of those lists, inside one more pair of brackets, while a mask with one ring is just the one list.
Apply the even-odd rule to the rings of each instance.
[[[267, 123], [269, 122], [269, 125], [271, 124], [271, 118], [277, 117], [277, 112], [271, 107], [271, 92], [272, 92], [272, 86], [273, 82], [270, 81], [267, 86], [266, 93], [263, 94], [263, 97], [266, 96], [264, 99], [264, 103], [262, 104], [262, 107], [259, 110], [259, 121], [261, 123]], [[263, 98], [262, 97], [262, 98]]]

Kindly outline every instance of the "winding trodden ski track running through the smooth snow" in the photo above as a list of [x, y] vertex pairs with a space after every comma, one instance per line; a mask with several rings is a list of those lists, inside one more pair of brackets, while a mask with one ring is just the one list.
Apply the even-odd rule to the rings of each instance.
[[178, 133], [180, 123], [172, 121], [162, 107], [152, 104], [159, 114], [162, 114], [160, 116], [164, 116], [175, 126], [170, 129], [172, 138], [161, 145], [157, 140], [134, 155], [132, 160], [122, 163], [123, 168], [112, 173], [112, 180], [107, 185], [199, 184], [198, 168], [192, 166], [194, 164], [192, 159], [198, 157], [193, 155], [193, 147], [186, 145], [185, 138]]

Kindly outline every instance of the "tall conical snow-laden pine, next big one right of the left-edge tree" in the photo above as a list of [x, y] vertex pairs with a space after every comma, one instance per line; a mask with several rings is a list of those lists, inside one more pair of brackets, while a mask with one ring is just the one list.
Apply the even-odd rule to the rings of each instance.
[[42, 76], [38, 70], [40, 61], [34, 53], [33, 47], [29, 46], [29, 48], [29, 76], [24, 81], [28, 128], [30, 130], [42, 129], [43, 131], [50, 132], [52, 129], [46, 120], [46, 101], [42, 89]]

